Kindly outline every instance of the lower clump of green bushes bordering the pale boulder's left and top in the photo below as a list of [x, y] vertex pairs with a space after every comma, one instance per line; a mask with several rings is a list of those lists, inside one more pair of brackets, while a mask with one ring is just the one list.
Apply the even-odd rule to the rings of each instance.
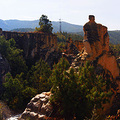
[[51, 86], [48, 83], [48, 78], [51, 70], [48, 65], [40, 60], [24, 77], [24, 73], [17, 74], [14, 78], [8, 73], [6, 75], [4, 93], [2, 99], [12, 109], [23, 109], [23, 106], [38, 93], [49, 91]]

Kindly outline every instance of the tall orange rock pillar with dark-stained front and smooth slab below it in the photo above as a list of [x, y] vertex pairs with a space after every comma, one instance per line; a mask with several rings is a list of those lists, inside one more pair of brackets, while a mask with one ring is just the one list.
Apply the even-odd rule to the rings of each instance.
[[118, 78], [120, 70], [116, 58], [109, 48], [107, 27], [95, 23], [93, 19], [83, 28], [86, 41], [84, 42], [84, 51], [80, 54], [81, 60], [97, 60], [97, 64], [110, 71], [114, 79]]

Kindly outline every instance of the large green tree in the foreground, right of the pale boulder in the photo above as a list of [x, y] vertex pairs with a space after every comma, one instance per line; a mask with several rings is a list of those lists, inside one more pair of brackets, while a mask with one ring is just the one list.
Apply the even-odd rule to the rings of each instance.
[[110, 81], [94, 73], [94, 67], [87, 63], [79, 68], [66, 72], [68, 62], [62, 59], [55, 67], [50, 80], [53, 83], [51, 102], [57, 106], [58, 113], [71, 120], [90, 118], [94, 106], [101, 108], [111, 92], [107, 89]]

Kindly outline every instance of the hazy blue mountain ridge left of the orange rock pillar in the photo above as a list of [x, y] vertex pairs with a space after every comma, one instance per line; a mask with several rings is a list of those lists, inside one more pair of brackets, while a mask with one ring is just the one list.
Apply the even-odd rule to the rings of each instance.
[[[58, 32], [60, 29], [59, 22], [52, 21], [53, 32]], [[23, 21], [23, 20], [0, 20], [0, 28], [5, 31], [11, 31], [18, 28], [31, 28], [35, 29], [39, 27], [39, 20]], [[61, 23], [62, 32], [81, 32], [83, 29], [82, 25], [74, 25], [67, 22]]]

